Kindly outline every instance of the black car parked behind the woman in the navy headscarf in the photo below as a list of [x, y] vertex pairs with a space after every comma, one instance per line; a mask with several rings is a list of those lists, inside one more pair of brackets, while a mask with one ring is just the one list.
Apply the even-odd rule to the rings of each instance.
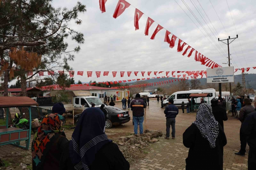
[[[113, 125], [120, 125], [127, 123], [131, 120], [129, 111], [121, 110], [114, 106], [105, 106], [108, 112], [106, 120], [106, 128], [112, 128]], [[81, 114], [74, 116], [74, 121], [77, 123], [79, 121]]]

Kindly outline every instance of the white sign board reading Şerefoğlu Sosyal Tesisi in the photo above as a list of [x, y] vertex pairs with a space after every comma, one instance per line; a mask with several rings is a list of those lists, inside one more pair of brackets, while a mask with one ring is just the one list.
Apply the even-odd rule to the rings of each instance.
[[207, 68], [207, 83], [234, 82], [234, 67]]

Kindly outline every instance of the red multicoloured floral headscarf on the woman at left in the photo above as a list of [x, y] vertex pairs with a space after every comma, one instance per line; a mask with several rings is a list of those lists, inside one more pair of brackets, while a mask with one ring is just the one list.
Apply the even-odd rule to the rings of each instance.
[[65, 119], [59, 114], [48, 114], [42, 120], [32, 142], [32, 160], [36, 167], [44, 165], [45, 157], [55, 139], [59, 135], [66, 136], [62, 131], [62, 122], [65, 122]]

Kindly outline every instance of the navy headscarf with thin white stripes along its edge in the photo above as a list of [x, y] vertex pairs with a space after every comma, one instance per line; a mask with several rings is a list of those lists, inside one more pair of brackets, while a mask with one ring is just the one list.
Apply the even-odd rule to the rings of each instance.
[[82, 112], [69, 145], [70, 158], [76, 170], [89, 170], [96, 153], [107, 143], [105, 134], [105, 115], [96, 107]]

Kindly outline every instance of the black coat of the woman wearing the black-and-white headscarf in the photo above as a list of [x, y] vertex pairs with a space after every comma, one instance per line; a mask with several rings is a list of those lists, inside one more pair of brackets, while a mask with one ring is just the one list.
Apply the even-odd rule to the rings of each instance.
[[189, 148], [186, 170], [223, 170], [223, 146], [227, 139], [220, 124], [215, 143], [215, 148], [211, 149], [209, 141], [202, 137], [194, 123], [187, 128], [183, 133], [183, 144]]

